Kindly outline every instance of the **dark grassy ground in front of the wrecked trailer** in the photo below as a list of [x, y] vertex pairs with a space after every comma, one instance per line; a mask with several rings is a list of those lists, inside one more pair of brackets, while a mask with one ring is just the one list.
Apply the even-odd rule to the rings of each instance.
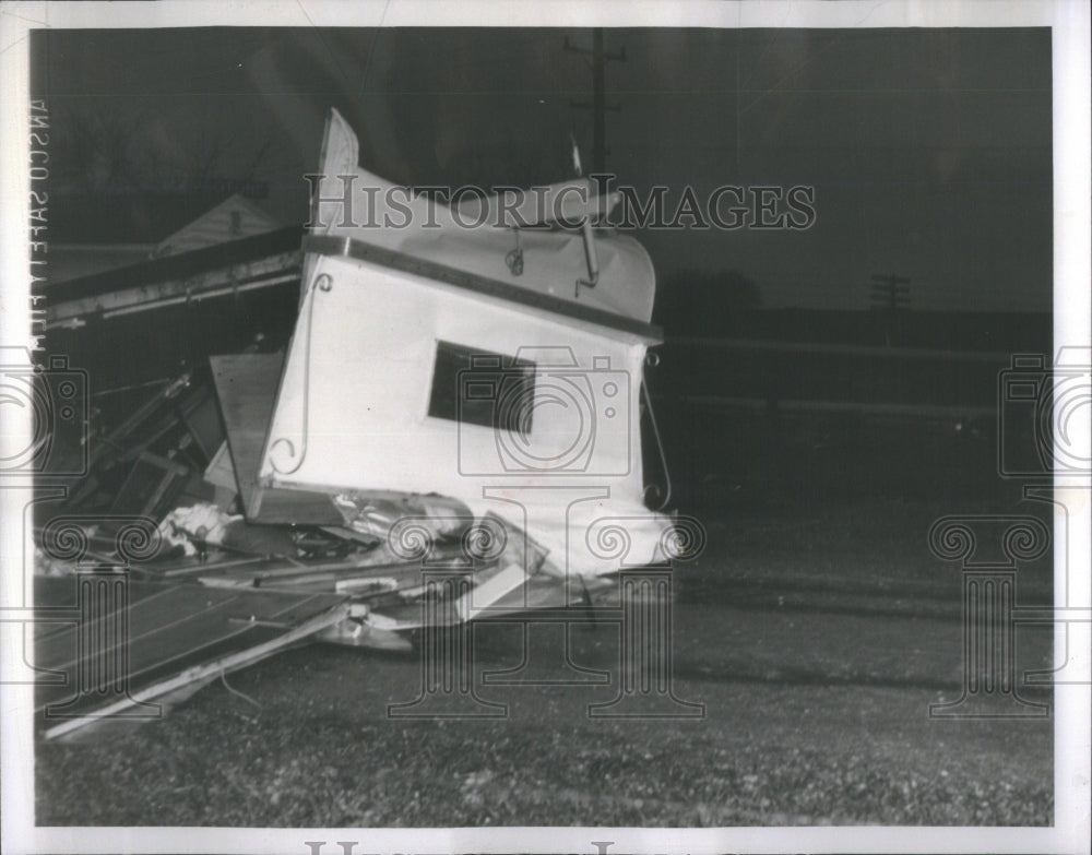
[[[251, 700], [214, 684], [140, 729], [39, 744], [38, 822], [1051, 824], [1051, 719], [927, 714], [962, 669], [958, 568], [925, 532], [959, 510], [864, 498], [712, 518], [677, 572], [674, 633], [675, 694], [704, 719], [592, 720], [615, 686], [478, 682], [508, 717], [394, 721], [417, 654], [312, 645], [232, 675]], [[1046, 567], [1020, 579], [1022, 604], [1049, 601]], [[518, 627], [475, 631], [477, 674], [519, 663]], [[551, 631], [532, 628], [532, 655], [556, 651]], [[1046, 664], [1049, 633], [1019, 633], [1020, 672]], [[615, 627], [570, 637], [577, 664], [616, 666]]]

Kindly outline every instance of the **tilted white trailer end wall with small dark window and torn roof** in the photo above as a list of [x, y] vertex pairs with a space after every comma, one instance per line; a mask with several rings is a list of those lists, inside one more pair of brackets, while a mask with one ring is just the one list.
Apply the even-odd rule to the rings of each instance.
[[[664, 560], [641, 436], [655, 280], [637, 241], [592, 231], [610, 200], [583, 180], [547, 188], [561, 202], [521, 229], [499, 216], [511, 200], [400, 195], [360, 168], [336, 112], [320, 173], [254, 519], [268, 490], [418, 497], [425, 515], [502, 520], [556, 577]], [[603, 546], [618, 536], [625, 554]]]

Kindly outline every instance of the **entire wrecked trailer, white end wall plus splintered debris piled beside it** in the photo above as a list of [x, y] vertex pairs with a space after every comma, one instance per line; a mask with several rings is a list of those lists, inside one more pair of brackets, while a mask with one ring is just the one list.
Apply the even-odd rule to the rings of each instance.
[[[47, 736], [305, 638], [406, 648], [413, 630], [587, 604], [596, 591], [620, 593], [618, 571], [695, 545], [645, 501], [655, 280], [639, 244], [593, 228], [615, 200], [577, 179], [530, 205], [480, 197], [452, 207], [368, 174], [357, 154], [332, 112], [286, 349], [210, 359], [224, 440], [203, 478], [232, 498], [164, 513], [142, 492], [136, 518], [117, 515], [114, 498], [112, 515], [41, 526], [44, 553], [67, 560], [59, 547], [72, 526], [99, 521], [79, 562], [109, 550], [117, 522], [115, 553], [138, 571], [129, 622], [154, 642], [116, 699], [96, 696]], [[210, 434], [202, 444], [215, 448]], [[175, 452], [162, 463], [178, 468]], [[78, 498], [108, 478], [84, 480]], [[132, 526], [147, 548], [129, 560]], [[458, 583], [430, 585], [437, 572]], [[83, 597], [114, 596], [114, 583], [88, 579], [79, 608], [107, 615]], [[195, 595], [197, 584], [217, 592]], [[74, 608], [62, 589], [38, 594]], [[189, 629], [198, 625], [207, 631]], [[269, 637], [248, 640], [256, 627]], [[83, 667], [70, 650], [80, 631], [44, 637], [39, 662]], [[41, 708], [56, 706], [56, 691], [39, 688]]]

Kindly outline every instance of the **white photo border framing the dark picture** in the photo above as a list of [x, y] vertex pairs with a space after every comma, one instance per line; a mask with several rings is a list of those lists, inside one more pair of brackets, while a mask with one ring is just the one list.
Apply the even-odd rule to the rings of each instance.
[[[539, 2], [488, 0], [432, 3], [426, 0], [347, 3], [299, 2], [5, 2], [0, 5], [0, 342], [28, 347], [28, 41], [38, 27], [185, 26], [708, 26], [708, 27], [949, 27], [1053, 28], [1054, 63], [1054, 318], [1055, 347], [1089, 346], [1090, 269], [1090, 8], [1083, 0], [844, 0], [843, 2]], [[1076, 426], [1088, 443], [1087, 419]], [[28, 425], [8, 421], [0, 441], [19, 442]], [[21, 520], [26, 483], [0, 485], [0, 605], [19, 603], [23, 556], [32, 549]], [[1059, 487], [1083, 489], [1069, 482]], [[1068, 546], [1073, 568], [1092, 566], [1088, 515], [1073, 518]], [[1063, 562], [1064, 563], [1064, 562]], [[1064, 570], [1064, 567], [1063, 567]], [[1065, 591], [1065, 584], [1056, 591]], [[1071, 573], [1070, 603], [1088, 603], [1089, 578]], [[1089, 651], [1078, 651], [1078, 672], [1090, 678]], [[2, 677], [15, 651], [7, 648]], [[1072, 665], [1070, 666], [1072, 667]], [[224, 828], [41, 828], [34, 824], [32, 687], [0, 686], [2, 726], [2, 835], [5, 852], [309, 852], [308, 840], [360, 841], [356, 852], [596, 852], [592, 841], [610, 841], [612, 853], [713, 852], [1089, 852], [1089, 685], [1055, 688], [1055, 826], [1022, 828], [731, 828], [731, 829], [224, 829]]]

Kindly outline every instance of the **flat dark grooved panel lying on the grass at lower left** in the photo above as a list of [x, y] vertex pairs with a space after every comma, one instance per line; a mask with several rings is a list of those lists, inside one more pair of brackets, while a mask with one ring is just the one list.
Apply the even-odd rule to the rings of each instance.
[[[108, 591], [90, 595], [88, 584]], [[52, 735], [82, 726], [73, 722], [132, 715], [147, 698], [257, 661], [347, 615], [337, 594], [223, 591], [123, 573], [36, 580], [35, 602], [58, 616], [58, 628], [35, 639], [36, 709], [68, 720]]]

